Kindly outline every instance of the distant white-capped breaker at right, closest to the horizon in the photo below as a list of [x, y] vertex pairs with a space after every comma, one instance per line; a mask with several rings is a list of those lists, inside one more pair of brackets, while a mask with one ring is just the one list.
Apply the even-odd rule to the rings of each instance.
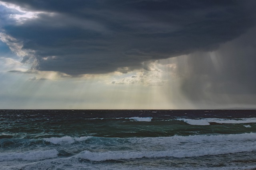
[[204, 119], [176, 119], [184, 121], [190, 125], [210, 125], [210, 123], [220, 124], [238, 124], [238, 123], [256, 123], [256, 118], [241, 118], [241, 119], [219, 119], [219, 118], [204, 118]]

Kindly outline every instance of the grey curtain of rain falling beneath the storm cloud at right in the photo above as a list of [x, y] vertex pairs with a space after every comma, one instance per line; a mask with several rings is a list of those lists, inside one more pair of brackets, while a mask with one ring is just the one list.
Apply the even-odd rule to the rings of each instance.
[[[193, 102], [255, 104], [256, 27], [216, 51], [172, 59], [180, 90]], [[163, 63], [167, 61], [162, 61]]]

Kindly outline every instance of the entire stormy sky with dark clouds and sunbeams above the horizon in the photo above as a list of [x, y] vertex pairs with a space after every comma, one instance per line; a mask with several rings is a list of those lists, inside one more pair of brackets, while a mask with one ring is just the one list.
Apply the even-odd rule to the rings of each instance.
[[256, 108], [255, 0], [0, 0], [0, 109]]

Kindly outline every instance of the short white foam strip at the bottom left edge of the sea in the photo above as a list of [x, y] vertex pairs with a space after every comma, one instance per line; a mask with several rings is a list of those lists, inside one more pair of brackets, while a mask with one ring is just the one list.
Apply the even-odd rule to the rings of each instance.
[[45, 151], [31, 151], [21, 153], [7, 153], [0, 155], [0, 161], [5, 160], [42, 160], [48, 158], [55, 158], [58, 156], [56, 149], [45, 150]]

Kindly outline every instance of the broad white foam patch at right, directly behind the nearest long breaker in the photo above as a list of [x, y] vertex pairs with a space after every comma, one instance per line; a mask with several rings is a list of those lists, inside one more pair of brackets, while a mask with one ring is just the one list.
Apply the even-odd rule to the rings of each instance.
[[[138, 146], [139, 149], [161, 149], [170, 147], [194, 147], [200, 145], [239, 145], [240, 143], [252, 143], [256, 140], [256, 133], [229, 134], [229, 135], [190, 135], [190, 136], [172, 136], [172, 137], [144, 137], [127, 139], [131, 146]], [[152, 147], [154, 146], [154, 147]]]

